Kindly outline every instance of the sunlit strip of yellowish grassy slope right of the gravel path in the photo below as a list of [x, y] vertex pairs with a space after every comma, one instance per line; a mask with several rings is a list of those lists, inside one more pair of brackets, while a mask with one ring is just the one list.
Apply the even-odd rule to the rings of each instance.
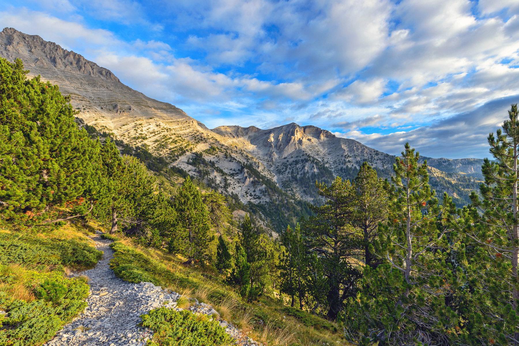
[[346, 344], [334, 323], [295, 309], [286, 309], [277, 299], [262, 297], [246, 303], [210, 269], [191, 268], [183, 258], [136, 245], [130, 238], [117, 236], [111, 265], [116, 274], [131, 282], [150, 281], [201, 302], [210, 303], [256, 341], [268, 345]]

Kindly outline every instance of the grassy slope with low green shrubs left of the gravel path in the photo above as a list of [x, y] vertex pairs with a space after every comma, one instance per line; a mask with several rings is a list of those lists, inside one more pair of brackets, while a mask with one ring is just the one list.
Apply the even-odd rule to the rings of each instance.
[[93, 267], [102, 253], [87, 234], [93, 225], [69, 224], [26, 234], [0, 230], [0, 344], [40, 345], [86, 307], [86, 278], [71, 270]]

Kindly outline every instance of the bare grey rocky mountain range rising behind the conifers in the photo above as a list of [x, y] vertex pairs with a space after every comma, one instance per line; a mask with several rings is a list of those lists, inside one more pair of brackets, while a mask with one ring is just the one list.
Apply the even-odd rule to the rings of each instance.
[[[58, 84], [90, 126], [165, 157], [211, 187], [260, 207], [263, 214], [278, 208], [277, 213], [296, 215], [301, 200], [316, 199], [316, 180], [351, 179], [363, 161], [381, 176], [392, 172], [394, 156], [315, 126], [210, 130], [181, 109], [127, 87], [106, 68], [36, 35], [4, 29], [0, 57], [20, 58], [30, 75]], [[433, 188], [439, 194], [447, 191], [458, 204], [468, 202], [476, 179], [481, 180], [482, 160], [427, 160]]]

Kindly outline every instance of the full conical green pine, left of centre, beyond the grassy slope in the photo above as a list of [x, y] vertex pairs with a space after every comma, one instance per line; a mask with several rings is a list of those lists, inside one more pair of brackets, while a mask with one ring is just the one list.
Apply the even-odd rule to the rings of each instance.
[[189, 176], [176, 193], [173, 204], [178, 217], [171, 232], [170, 251], [185, 255], [189, 265], [205, 261], [214, 235], [207, 207]]

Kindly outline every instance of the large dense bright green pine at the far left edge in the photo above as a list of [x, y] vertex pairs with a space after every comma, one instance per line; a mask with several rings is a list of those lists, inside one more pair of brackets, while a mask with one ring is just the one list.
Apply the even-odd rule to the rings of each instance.
[[77, 127], [69, 98], [27, 72], [0, 58], [0, 223], [31, 227], [85, 215], [102, 184], [99, 143]]

